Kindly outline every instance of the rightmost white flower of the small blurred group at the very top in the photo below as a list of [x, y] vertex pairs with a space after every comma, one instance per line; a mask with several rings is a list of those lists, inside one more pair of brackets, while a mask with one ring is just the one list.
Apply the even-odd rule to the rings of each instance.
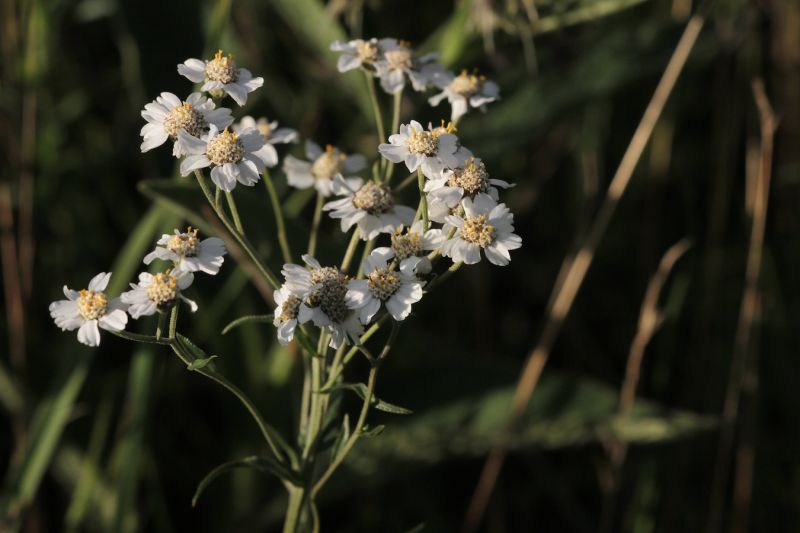
[[500, 99], [500, 87], [495, 82], [487, 80], [485, 76], [468, 74], [466, 70], [462, 70], [458, 76], [452, 72], [439, 71], [433, 75], [431, 81], [442, 92], [428, 98], [428, 103], [438, 106], [447, 98], [452, 107], [450, 120], [453, 122], [458, 122], [458, 119], [466, 115], [470, 107], [485, 112], [486, 104]]

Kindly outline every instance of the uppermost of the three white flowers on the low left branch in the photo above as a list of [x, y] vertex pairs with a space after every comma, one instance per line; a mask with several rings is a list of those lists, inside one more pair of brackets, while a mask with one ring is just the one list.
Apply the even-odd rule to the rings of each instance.
[[175, 266], [172, 272], [176, 275], [198, 271], [216, 274], [227, 253], [222, 239], [209, 237], [201, 241], [191, 226], [184, 233], [177, 229], [174, 235], [165, 233], [156, 244], [156, 249], [144, 256], [144, 264], [149, 265], [153, 259], [172, 261]]

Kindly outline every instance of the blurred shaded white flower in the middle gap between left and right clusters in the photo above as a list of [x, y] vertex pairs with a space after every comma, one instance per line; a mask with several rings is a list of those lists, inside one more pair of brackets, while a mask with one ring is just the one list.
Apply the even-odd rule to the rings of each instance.
[[283, 171], [289, 185], [298, 189], [308, 189], [312, 185], [317, 192], [326, 198], [333, 194], [333, 179], [344, 178], [348, 183], [354, 178], [350, 174], [367, 166], [363, 155], [346, 155], [330, 144], [325, 151], [318, 144], [306, 141], [306, 157], [303, 161], [291, 155], [283, 161]]

